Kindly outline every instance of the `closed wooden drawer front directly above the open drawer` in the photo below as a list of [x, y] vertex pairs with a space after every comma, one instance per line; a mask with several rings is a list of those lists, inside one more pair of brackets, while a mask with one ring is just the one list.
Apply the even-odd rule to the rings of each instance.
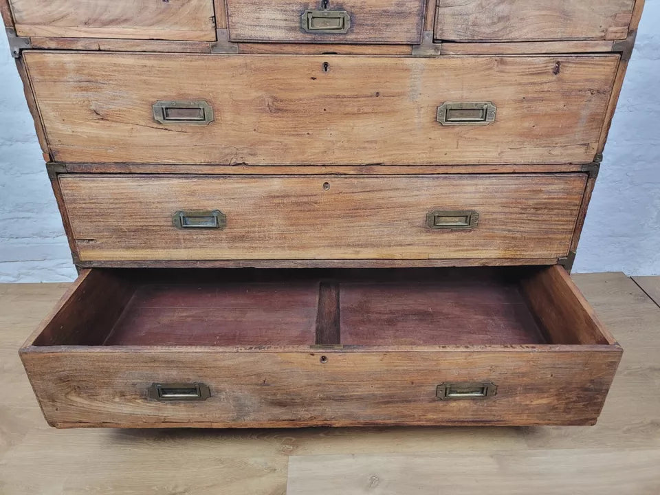
[[[440, 176], [59, 175], [80, 261], [556, 258], [585, 173]], [[221, 210], [223, 229], [177, 229]], [[467, 230], [432, 210], [476, 210]]]

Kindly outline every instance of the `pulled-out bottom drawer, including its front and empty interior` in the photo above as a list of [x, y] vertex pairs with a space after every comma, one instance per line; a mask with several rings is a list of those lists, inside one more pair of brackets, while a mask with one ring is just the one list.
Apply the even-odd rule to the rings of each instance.
[[95, 269], [21, 358], [63, 428], [556, 425], [621, 348], [559, 266]]

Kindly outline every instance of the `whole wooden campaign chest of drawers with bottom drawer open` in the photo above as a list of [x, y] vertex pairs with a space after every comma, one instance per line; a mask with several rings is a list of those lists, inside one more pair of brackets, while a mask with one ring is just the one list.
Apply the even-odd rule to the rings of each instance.
[[595, 423], [567, 270], [642, 7], [0, 0], [80, 273], [48, 423]]

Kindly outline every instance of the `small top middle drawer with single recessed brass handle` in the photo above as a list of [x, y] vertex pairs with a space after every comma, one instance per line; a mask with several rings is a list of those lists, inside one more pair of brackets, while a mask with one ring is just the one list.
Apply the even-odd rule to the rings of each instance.
[[424, 0], [227, 0], [230, 39], [419, 43]]

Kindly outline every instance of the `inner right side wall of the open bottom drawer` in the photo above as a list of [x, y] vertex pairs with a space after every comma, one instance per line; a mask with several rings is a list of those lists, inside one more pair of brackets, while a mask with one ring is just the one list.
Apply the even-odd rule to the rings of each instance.
[[[531, 272], [522, 278], [521, 287], [552, 342], [616, 344], [563, 267]], [[570, 328], [566, 322], [571, 322]]]

